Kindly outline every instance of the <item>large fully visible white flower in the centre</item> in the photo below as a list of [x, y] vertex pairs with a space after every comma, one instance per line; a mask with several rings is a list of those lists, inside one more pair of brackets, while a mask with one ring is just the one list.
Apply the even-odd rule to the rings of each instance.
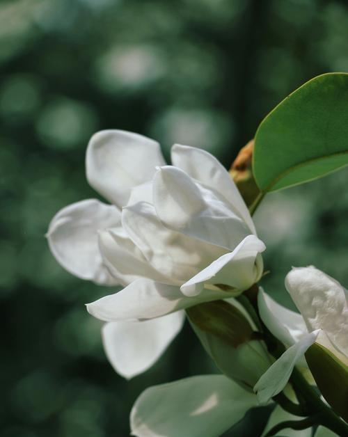
[[264, 244], [225, 168], [183, 145], [173, 146], [171, 159], [166, 166], [150, 138], [98, 132], [88, 144], [87, 179], [113, 205], [77, 202], [47, 232], [65, 269], [125, 286], [88, 311], [109, 322], [106, 354], [126, 377], [159, 358], [180, 331], [180, 310], [239, 294], [262, 274]]

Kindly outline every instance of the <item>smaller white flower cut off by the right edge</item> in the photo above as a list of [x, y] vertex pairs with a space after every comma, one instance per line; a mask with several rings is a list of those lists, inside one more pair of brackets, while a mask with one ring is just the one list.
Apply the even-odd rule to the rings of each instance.
[[294, 366], [314, 342], [348, 363], [347, 290], [313, 266], [292, 269], [285, 286], [301, 315], [279, 305], [262, 290], [258, 294], [262, 321], [289, 347], [255, 385], [262, 403], [283, 390]]

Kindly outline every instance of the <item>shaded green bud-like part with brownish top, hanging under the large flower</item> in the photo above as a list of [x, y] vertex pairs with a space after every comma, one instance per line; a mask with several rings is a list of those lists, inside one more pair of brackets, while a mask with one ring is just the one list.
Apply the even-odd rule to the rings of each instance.
[[260, 376], [271, 365], [271, 358], [260, 333], [245, 310], [228, 301], [200, 303], [187, 315], [203, 347], [219, 370], [252, 391]]

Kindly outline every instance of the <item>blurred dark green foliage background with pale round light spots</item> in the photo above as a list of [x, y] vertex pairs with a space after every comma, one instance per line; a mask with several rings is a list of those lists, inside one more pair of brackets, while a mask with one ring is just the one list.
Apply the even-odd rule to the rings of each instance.
[[[189, 326], [130, 382], [107, 363], [84, 303], [110, 289], [65, 273], [44, 237], [58, 209], [96, 196], [84, 175], [88, 139], [125, 129], [156, 138], [166, 157], [184, 143], [230, 166], [283, 97], [348, 71], [347, 3], [1, 1], [0, 64], [1, 436], [127, 436], [144, 388], [215, 370]], [[279, 301], [291, 305], [292, 265], [348, 285], [347, 180], [342, 170], [258, 210], [263, 285]], [[226, 436], [258, 436], [262, 418]]]

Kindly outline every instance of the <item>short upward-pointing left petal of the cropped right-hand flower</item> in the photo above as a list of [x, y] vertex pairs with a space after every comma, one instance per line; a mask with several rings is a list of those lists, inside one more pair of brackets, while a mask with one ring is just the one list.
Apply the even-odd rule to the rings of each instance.
[[274, 301], [261, 288], [258, 292], [258, 308], [269, 331], [287, 346], [296, 343], [308, 333], [301, 315]]

